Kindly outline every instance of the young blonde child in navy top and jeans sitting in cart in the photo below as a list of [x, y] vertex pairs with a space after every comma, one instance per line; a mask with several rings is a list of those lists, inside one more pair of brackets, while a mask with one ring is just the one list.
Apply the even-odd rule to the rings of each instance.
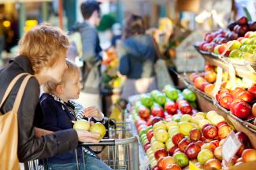
[[[43, 121], [40, 128], [49, 131], [59, 131], [72, 128], [72, 121], [81, 118], [91, 118], [91, 121], [103, 121], [104, 115], [96, 107], [83, 108], [79, 103], [71, 101], [78, 99], [80, 95], [80, 70], [74, 63], [67, 60], [67, 70], [62, 75], [61, 83], [47, 82], [44, 86], [44, 92], [40, 97], [40, 105], [43, 110]], [[69, 136], [67, 136], [69, 137]], [[64, 154], [47, 159], [47, 166], [51, 170], [77, 169], [77, 161], [80, 169], [83, 168], [83, 153], [87, 170], [109, 170], [108, 165], [103, 163], [94, 151], [89, 147], [82, 151], [77, 148]]]

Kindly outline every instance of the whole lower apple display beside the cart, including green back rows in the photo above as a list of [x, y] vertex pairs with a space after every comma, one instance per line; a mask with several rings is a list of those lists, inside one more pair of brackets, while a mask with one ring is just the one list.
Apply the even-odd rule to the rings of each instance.
[[[216, 111], [198, 112], [195, 92], [171, 85], [139, 97], [129, 110], [151, 169], [221, 169], [226, 138], [236, 130]], [[256, 150], [243, 132], [236, 132], [241, 146], [228, 167], [256, 161]], [[255, 157], [255, 159], [254, 159]]]

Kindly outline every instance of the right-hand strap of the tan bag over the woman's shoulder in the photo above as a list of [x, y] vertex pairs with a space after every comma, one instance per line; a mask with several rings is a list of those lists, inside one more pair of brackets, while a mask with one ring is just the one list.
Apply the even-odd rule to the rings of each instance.
[[13, 113], [17, 113], [18, 110], [19, 110], [19, 107], [20, 107], [20, 102], [21, 102], [21, 99], [22, 99], [22, 96], [24, 94], [24, 91], [25, 91], [25, 88], [28, 84], [28, 80], [32, 78], [32, 75], [29, 74], [26, 76], [26, 78], [24, 78], [24, 80], [22, 81], [21, 85], [20, 85], [20, 89], [17, 93], [17, 96], [16, 96], [16, 99], [14, 101], [14, 104], [13, 104]]

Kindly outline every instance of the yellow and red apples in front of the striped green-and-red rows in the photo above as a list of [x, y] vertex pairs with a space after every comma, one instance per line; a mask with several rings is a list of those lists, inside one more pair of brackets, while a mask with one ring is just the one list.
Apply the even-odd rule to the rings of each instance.
[[[221, 169], [222, 145], [232, 132], [232, 127], [215, 111], [183, 114], [176, 121], [154, 118], [149, 126], [140, 119], [135, 125], [153, 170], [182, 169], [189, 161], [198, 161], [201, 168]], [[139, 129], [141, 126], [145, 128]], [[243, 132], [236, 136], [242, 146], [231, 164], [255, 161], [256, 150], [250, 149], [248, 137]]]

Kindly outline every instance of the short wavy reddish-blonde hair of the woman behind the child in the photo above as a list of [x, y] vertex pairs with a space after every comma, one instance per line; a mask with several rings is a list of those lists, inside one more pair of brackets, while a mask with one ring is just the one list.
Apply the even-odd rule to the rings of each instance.
[[69, 49], [68, 35], [58, 27], [40, 24], [27, 31], [20, 39], [20, 55], [28, 57], [35, 73], [52, 67]]

